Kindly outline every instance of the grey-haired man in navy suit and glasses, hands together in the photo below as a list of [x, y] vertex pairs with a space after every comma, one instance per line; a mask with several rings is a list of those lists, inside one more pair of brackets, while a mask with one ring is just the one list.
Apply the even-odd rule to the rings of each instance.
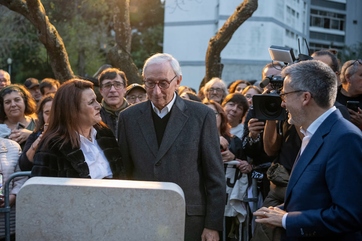
[[257, 210], [256, 222], [283, 227], [281, 240], [362, 240], [362, 133], [333, 107], [336, 74], [310, 60], [282, 76], [282, 107], [304, 138], [284, 203]]

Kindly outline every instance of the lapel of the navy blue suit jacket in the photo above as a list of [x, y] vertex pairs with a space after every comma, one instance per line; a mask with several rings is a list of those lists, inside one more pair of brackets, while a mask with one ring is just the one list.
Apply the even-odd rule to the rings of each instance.
[[[339, 112], [339, 111], [338, 111]], [[295, 160], [292, 172], [290, 174], [290, 179], [288, 182], [287, 190], [285, 193], [285, 204], [284, 207], [286, 208], [287, 202], [289, 201], [289, 195], [291, 194], [292, 189], [294, 188], [296, 182], [299, 180], [300, 176], [306, 169], [307, 165], [311, 162], [313, 157], [316, 155], [317, 151], [319, 150], [320, 146], [323, 144], [323, 137], [327, 135], [331, 131], [332, 125], [339, 119], [338, 117], [342, 117], [340, 113], [336, 113], [335, 111], [332, 112], [327, 119], [325, 119], [316, 132], [313, 134], [312, 138], [310, 139], [306, 149], [304, 149], [302, 155], [299, 156]], [[338, 115], [339, 114], [339, 115]], [[299, 151], [300, 153], [300, 151]]]

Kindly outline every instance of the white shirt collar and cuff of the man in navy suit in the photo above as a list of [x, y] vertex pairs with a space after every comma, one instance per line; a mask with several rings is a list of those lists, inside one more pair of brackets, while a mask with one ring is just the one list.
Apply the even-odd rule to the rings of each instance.
[[[328, 109], [328, 111], [324, 112], [315, 121], [313, 121], [312, 124], [310, 124], [310, 126], [308, 126], [307, 130], [304, 130], [303, 127], [300, 128], [300, 132], [302, 132], [304, 134], [304, 138], [302, 140], [302, 147], [300, 147], [300, 155], [302, 155], [302, 152], [304, 151], [304, 149], [306, 149], [306, 146], [308, 145], [310, 139], [312, 138], [312, 136], [316, 132], [316, 130], [319, 128], [319, 126], [322, 124], [322, 122], [325, 119], [327, 119], [327, 117], [329, 115], [331, 115], [331, 113], [333, 111], [335, 111], [336, 109], [337, 108], [335, 106]], [[284, 214], [283, 219], [282, 219], [282, 225], [283, 225], [283, 228], [285, 228], [285, 229], [286, 229], [285, 221], [287, 219], [287, 215], [288, 215], [288, 213]]]

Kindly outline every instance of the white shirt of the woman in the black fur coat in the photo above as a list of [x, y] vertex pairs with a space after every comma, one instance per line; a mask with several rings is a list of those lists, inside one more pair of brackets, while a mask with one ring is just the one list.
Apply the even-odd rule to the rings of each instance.
[[89, 175], [93, 179], [112, 178], [113, 173], [109, 166], [103, 150], [96, 141], [96, 129], [90, 129], [90, 137], [92, 141], [79, 134], [80, 150], [83, 151], [85, 162], [89, 168]]

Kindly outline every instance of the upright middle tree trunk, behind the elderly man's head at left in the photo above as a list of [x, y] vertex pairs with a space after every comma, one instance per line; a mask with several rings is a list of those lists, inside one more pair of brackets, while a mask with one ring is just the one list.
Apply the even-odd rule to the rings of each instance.
[[115, 32], [115, 46], [108, 52], [111, 64], [125, 72], [129, 83], [142, 84], [142, 77], [131, 57], [131, 24], [129, 0], [113, 0], [114, 11], [113, 29]]

